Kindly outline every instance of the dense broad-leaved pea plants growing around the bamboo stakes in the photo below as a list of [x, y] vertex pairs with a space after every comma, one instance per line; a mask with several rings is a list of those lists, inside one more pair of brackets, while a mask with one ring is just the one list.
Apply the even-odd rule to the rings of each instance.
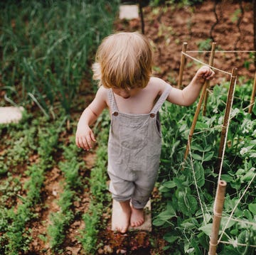
[[[166, 229], [164, 239], [169, 243], [166, 249], [171, 254], [203, 254], [208, 251], [228, 85], [215, 86], [210, 93], [208, 112], [198, 118], [186, 162], [183, 162], [184, 147], [196, 106], [184, 108], [166, 104], [162, 112], [164, 144], [159, 182], [164, 210], [156, 215], [154, 225]], [[218, 254], [255, 252], [250, 246], [256, 243], [256, 178], [245, 192], [256, 173], [256, 107], [252, 114], [245, 109], [250, 103], [251, 89], [250, 81], [235, 91], [221, 175], [228, 185], [220, 231], [226, 227], [222, 241], [230, 244], [219, 244]], [[229, 220], [233, 210], [233, 217]], [[228, 226], [225, 226], [228, 221]]]

